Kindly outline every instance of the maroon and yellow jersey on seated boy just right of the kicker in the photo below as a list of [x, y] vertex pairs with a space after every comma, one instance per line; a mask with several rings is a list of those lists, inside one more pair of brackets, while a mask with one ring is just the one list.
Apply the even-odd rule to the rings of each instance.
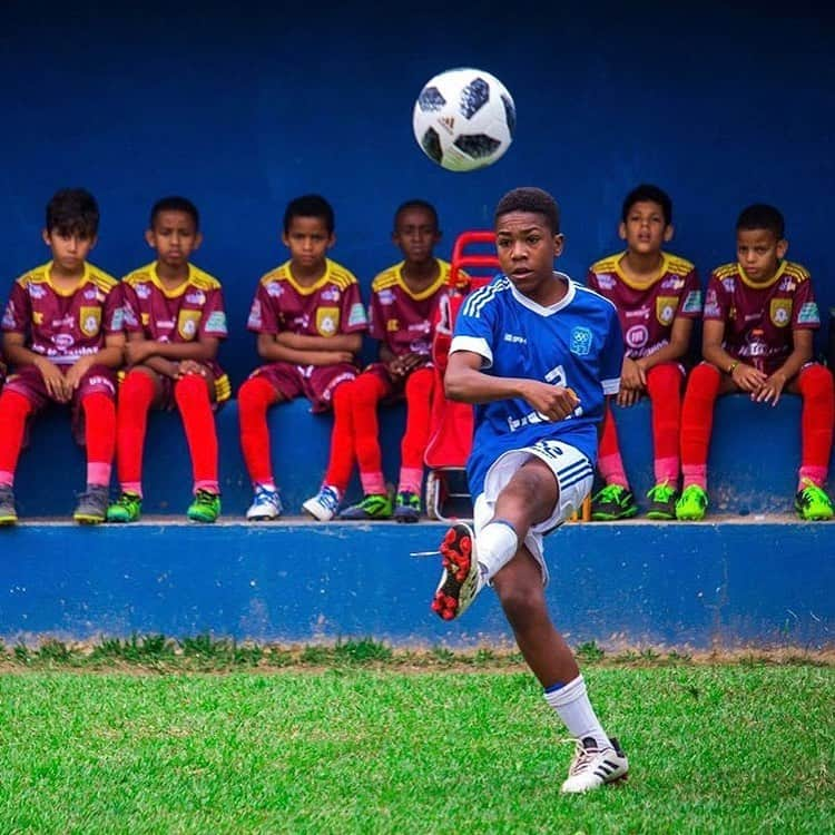
[[586, 284], [615, 305], [626, 355], [638, 360], [669, 344], [677, 317], [701, 315], [701, 287], [696, 267], [667, 253], [661, 253], [658, 275], [646, 284], [636, 284], [620, 268], [623, 255], [610, 255], [592, 264]]

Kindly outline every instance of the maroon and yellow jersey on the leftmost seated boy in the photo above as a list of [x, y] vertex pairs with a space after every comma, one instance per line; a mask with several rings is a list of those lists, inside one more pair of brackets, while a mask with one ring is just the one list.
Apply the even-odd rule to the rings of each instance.
[[121, 296], [112, 276], [85, 264], [69, 293], [51, 281], [52, 262], [26, 273], [11, 288], [2, 330], [23, 334], [26, 346], [56, 365], [72, 365], [105, 345], [105, 336], [122, 330]]

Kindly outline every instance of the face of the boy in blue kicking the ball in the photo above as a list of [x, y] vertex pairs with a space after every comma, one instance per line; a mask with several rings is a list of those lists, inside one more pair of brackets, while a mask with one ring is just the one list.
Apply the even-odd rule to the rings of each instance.
[[495, 249], [504, 275], [520, 293], [536, 296], [551, 281], [553, 259], [563, 237], [554, 234], [538, 212], [510, 212], [495, 224]]

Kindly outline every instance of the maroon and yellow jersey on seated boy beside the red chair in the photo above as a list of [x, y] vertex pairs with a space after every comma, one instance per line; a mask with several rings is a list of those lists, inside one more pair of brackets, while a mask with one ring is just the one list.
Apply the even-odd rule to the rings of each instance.
[[432, 353], [435, 312], [440, 298], [450, 292], [450, 265], [435, 258], [436, 281], [421, 293], [409, 289], [403, 279], [403, 262], [384, 269], [371, 284], [369, 332], [395, 356]]

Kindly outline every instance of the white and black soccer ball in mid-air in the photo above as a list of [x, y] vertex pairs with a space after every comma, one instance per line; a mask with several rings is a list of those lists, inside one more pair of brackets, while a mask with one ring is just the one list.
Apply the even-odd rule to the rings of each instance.
[[489, 72], [469, 67], [431, 78], [414, 102], [418, 145], [451, 171], [492, 165], [513, 141], [517, 110], [508, 88]]

